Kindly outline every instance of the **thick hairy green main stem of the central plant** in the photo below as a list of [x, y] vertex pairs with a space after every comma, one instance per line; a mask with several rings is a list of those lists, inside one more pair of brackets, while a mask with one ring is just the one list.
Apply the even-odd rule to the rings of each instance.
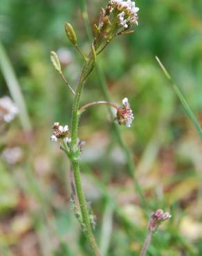
[[82, 73], [80, 75], [80, 80], [77, 85], [77, 90], [75, 93], [75, 99], [73, 102], [73, 111], [72, 111], [72, 123], [71, 123], [71, 163], [73, 165], [73, 175], [75, 179], [75, 188], [77, 191], [77, 197], [80, 203], [80, 209], [82, 213], [82, 222], [84, 224], [84, 234], [86, 235], [86, 239], [89, 242], [89, 246], [91, 246], [91, 250], [96, 256], [101, 256], [98, 245], [96, 244], [95, 237], [93, 236], [93, 232], [91, 230], [91, 223], [89, 220], [89, 211], [86, 205], [86, 200], [84, 197], [84, 192], [82, 189], [82, 182], [80, 177], [80, 149], [77, 146], [77, 137], [78, 137], [78, 123], [79, 123], [79, 107], [80, 107], [80, 96], [82, 93], [82, 89], [84, 83], [86, 81], [86, 77], [89, 74], [89, 70], [91, 70], [93, 65], [92, 61], [92, 53], [89, 54], [89, 60], [84, 62], [84, 66], [82, 68]]

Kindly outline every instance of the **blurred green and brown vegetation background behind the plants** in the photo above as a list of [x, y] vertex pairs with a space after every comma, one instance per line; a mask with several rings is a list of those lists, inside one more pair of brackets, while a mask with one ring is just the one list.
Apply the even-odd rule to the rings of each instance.
[[[106, 4], [87, 1], [92, 25]], [[114, 40], [99, 62], [111, 100], [120, 104], [128, 97], [136, 116], [130, 129], [120, 129], [147, 210], [107, 108], [91, 107], [82, 116], [80, 138], [86, 141], [82, 179], [97, 219], [95, 237], [102, 255], [138, 255], [145, 213], [163, 208], [172, 219], [154, 236], [148, 255], [202, 255], [201, 140], [155, 60], [158, 55], [202, 123], [202, 1], [137, 0], [136, 5], [135, 33]], [[89, 255], [69, 203], [70, 165], [50, 143], [53, 122], [70, 125], [73, 99], [49, 55], [57, 51], [75, 88], [82, 59], [66, 39], [64, 22], [73, 24], [80, 46], [89, 51], [80, 1], [0, 0], [0, 6], [0, 59], [7, 55], [15, 71], [29, 119], [22, 105], [15, 120], [0, 124], [0, 255]], [[6, 80], [10, 65], [4, 64], [0, 95], [11, 93], [20, 104], [15, 81]], [[91, 100], [104, 100], [95, 71], [82, 98]]]

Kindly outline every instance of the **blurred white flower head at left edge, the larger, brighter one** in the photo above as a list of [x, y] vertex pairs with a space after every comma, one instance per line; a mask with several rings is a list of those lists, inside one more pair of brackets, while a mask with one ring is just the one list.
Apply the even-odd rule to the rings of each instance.
[[17, 106], [8, 96], [4, 96], [0, 99], [0, 121], [11, 122], [17, 113]]

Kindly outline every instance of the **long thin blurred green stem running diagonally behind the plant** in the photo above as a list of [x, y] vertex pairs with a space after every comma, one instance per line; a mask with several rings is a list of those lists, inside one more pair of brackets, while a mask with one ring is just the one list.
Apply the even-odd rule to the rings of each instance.
[[[84, 19], [84, 23], [86, 26], [87, 34], [89, 36], [89, 40], [92, 40], [93, 35], [91, 33], [91, 26], [89, 24], [89, 17], [88, 17], [88, 13], [86, 10], [86, 1], [85, 0], [80, 0], [80, 8], [82, 11], [82, 17]], [[100, 67], [99, 63], [97, 63], [96, 69], [97, 69], [97, 73], [98, 73], [98, 79], [100, 80], [100, 87], [102, 90], [102, 94], [104, 96], [104, 100], [110, 102], [111, 100], [110, 100], [109, 92], [107, 89], [107, 82], [105, 80], [104, 73], [103, 73], [102, 68]], [[111, 112], [110, 109], [109, 109], [109, 113], [111, 114], [111, 117], [113, 118], [113, 113]], [[136, 179], [135, 166], [134, 166], [133, 158], [131, 156], [131, 152], [130, 152], [129, 148], [125, 145], [125, 143], [122, 139], [118, 125], [113, 124], [113, 131], [116, 134], [116, 138], [118, 140], [118, 143], [120, 144], [120, 147], [122, 148], [122, 152], [124, 152], [124, 154], [125, 154], [125, 159], [127, 162], [127, 170], [129, 171], [129, 174], [131, 175], [132, 179], [134, 180], [134, 187], [136, 188], [136, 191], [138, 192], [140, 203], [143, 206], [143, 208], [146, 209], [147, 204], [145, 202], [143, 190], [140, 187], [138, 180]]]

